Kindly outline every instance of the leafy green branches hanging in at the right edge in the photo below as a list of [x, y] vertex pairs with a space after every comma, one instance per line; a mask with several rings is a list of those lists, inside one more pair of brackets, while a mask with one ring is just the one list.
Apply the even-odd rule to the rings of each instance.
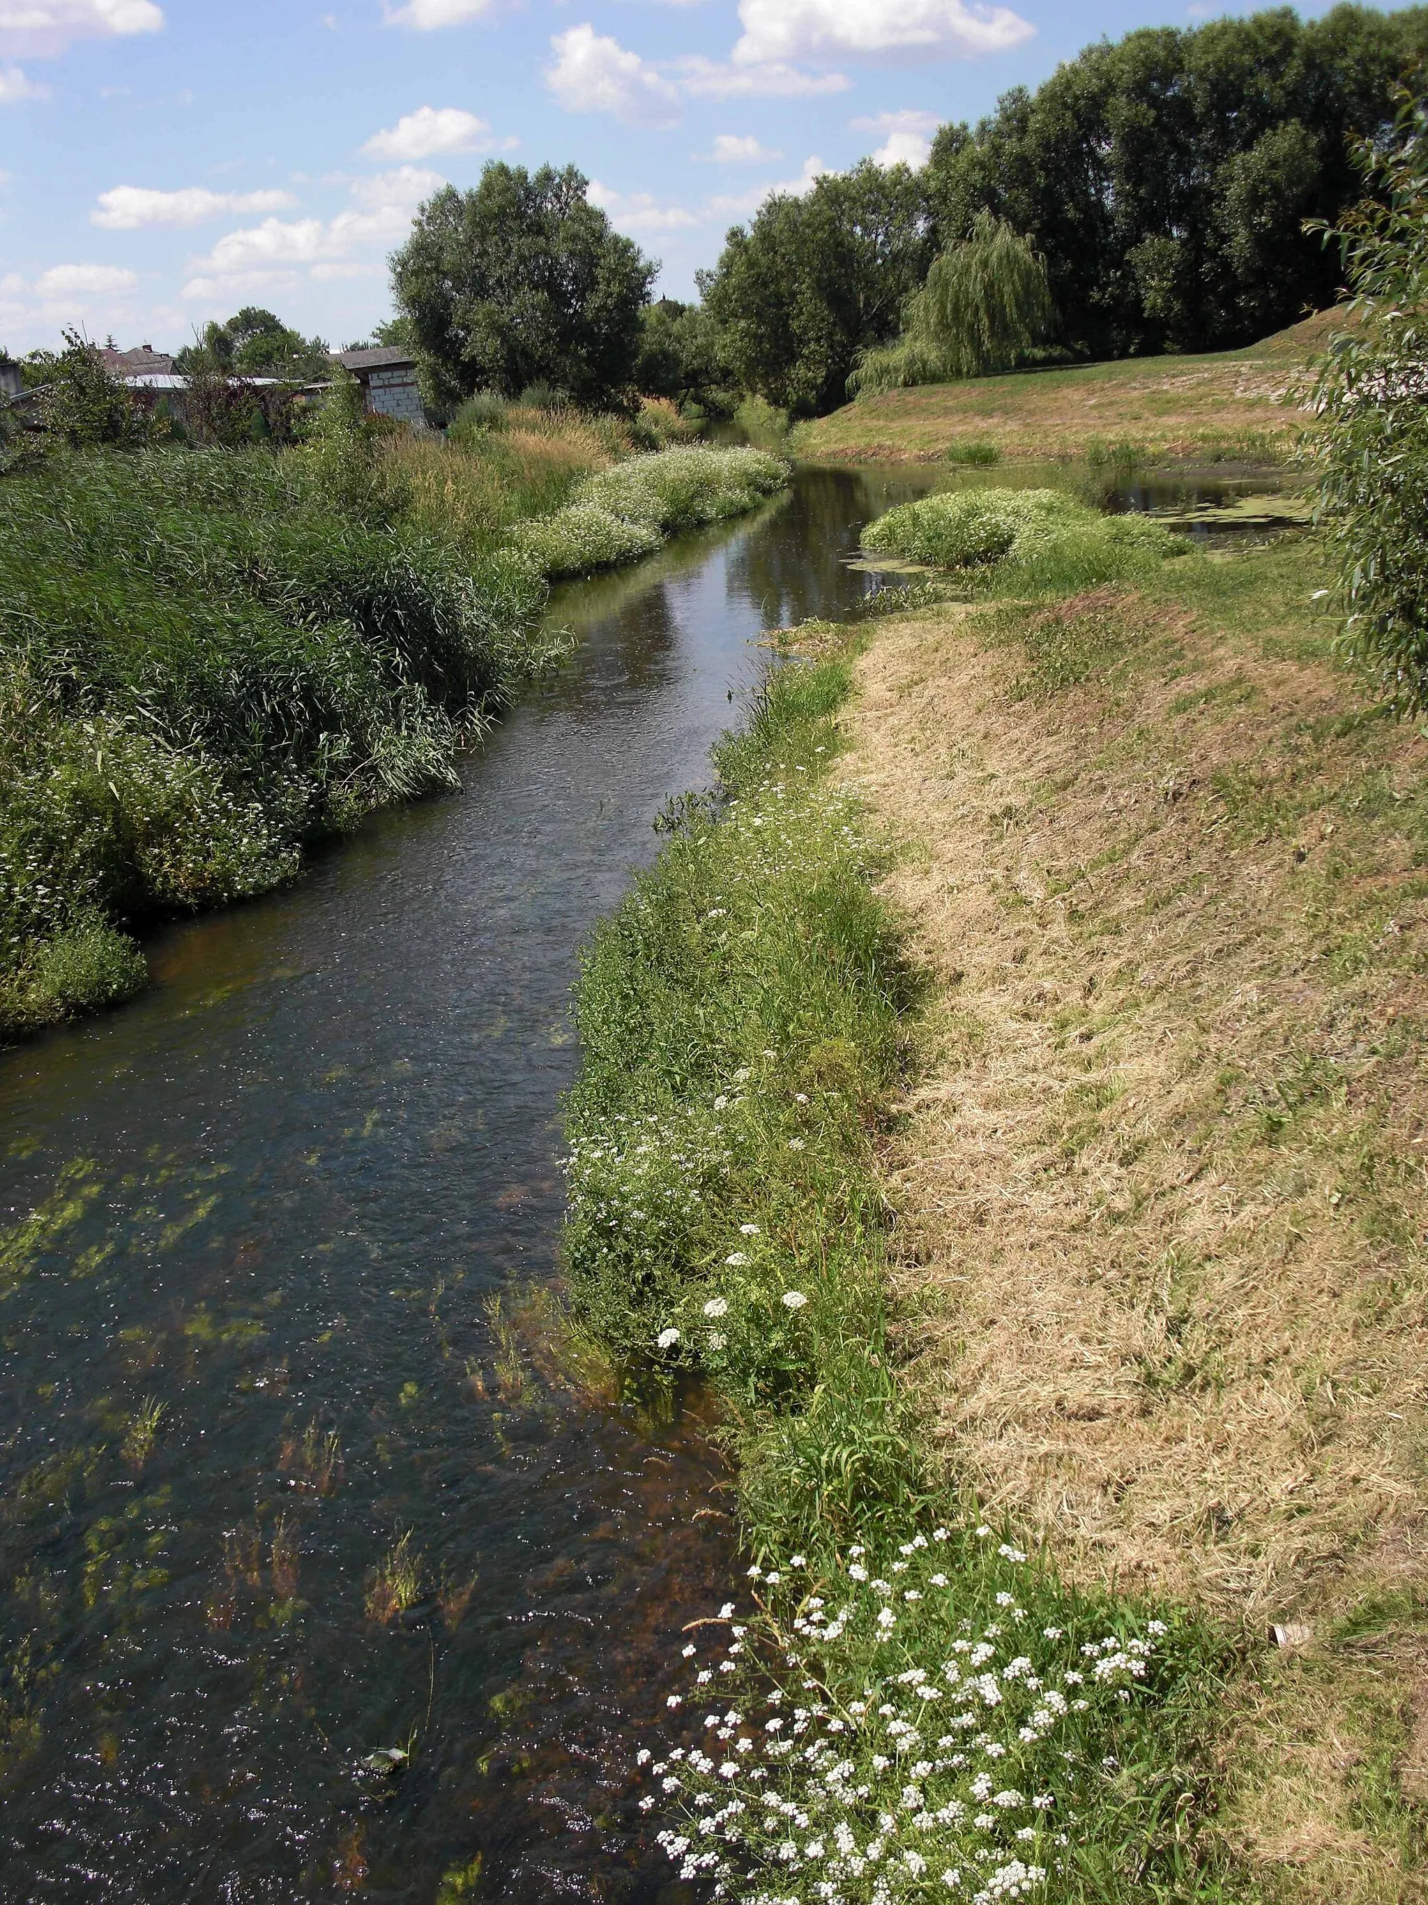
[[1382, 194], [1329, 234], [1352, 288], [1314, 406], [1310, 455], [1337, 566], [1344, 652], [1401, 714], [1428, 709], [1428, 112], [1405, 95], [1398, 139], [1363, 149]]

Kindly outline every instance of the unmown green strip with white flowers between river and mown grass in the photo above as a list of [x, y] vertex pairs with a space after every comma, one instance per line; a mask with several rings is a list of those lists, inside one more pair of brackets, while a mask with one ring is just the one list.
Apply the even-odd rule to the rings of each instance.
[[712, 1383], [758, 1560], [685, 1646], [642, 1804], [744, 1901], [1217, 1897], [1217, 1631], [1028, 1558], [902, 1379], [882, 1156], [923, 979], [838, 785], [857, 642], [811, 640], [579, 989], [575, 1309], [642, 1381]]

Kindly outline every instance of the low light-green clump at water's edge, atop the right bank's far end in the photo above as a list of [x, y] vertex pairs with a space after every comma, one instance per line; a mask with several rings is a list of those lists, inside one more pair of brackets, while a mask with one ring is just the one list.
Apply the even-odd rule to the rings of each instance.
[[868, 549], [948, 570], [994, 570], [1000, 589], [1070, 592], [1120, 581], [1186, 545], [1146, 516], [1102, 516], [1064, 490], [954, 490], [902, 503]]

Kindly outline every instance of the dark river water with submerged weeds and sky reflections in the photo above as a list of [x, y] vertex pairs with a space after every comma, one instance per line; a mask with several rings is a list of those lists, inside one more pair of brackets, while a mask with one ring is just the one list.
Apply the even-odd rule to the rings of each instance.
[[727, 1501], [697, 1412], [552, 1349], [567, 996], [878, 507], [807, 476], [564, 591], [463, 794], [0, 1055], [6, 1901], [670, 1895], [626, 1764]]

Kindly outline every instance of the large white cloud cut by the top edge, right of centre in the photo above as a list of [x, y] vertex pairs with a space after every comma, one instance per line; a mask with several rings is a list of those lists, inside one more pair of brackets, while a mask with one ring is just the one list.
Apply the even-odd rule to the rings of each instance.
[[952, 59], [1002, 53], [1036, 29], [973, 0], [739, 0], [737, 65], [786, 59]]

